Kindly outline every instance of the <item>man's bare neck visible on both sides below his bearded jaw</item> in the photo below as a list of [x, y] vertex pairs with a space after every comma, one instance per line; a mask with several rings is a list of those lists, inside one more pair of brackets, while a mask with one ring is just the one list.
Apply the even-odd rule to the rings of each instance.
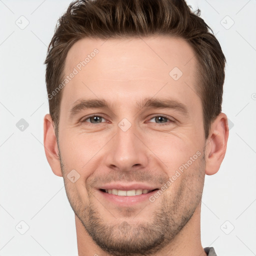
[[[198, 204], [192, 217], [179, 233], [161, 250], [154, 253], [154, 256], [206, 256], [201, 245], [200, 235], [200, 208]], [[78, 256], [111, 256], [103, 251], [86, 232], [83, 224], [75, 215], [75, 226], [77, 235]], [[136, 255], [139, 256], [139, 255]]]

